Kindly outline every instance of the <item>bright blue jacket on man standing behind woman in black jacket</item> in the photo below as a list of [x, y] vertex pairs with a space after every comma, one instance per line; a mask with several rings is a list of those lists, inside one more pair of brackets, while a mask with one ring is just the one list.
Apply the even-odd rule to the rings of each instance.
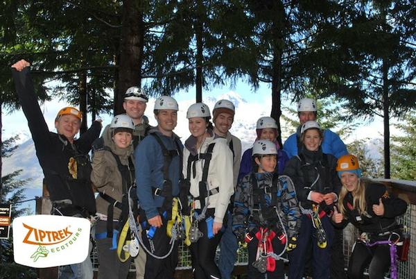
[[[297, 155], [298, 138], [300, 138], [300, 128], [297, 128], [297, 133], [290, 135], [283, 144], [283, 150], [286, 151], [289, 158]], [[343, 140], [329, 129], [324, 130], [324, 140], [321, 146], [323, 153], [334, 155], [337, 159], [348, 154], [347, 146], [345, 146]]]

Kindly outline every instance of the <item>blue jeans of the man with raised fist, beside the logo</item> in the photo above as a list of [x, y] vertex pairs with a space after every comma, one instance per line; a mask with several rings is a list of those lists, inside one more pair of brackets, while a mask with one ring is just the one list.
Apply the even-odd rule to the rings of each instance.
[[92, 242], [89, 242], [89, 253], [84, 262], [79, 264], [69, 264], [59, 267], [59, 279], [92, 279], [94, 272], [92, 270], [92, 262], [89, 254], [92, 251]]

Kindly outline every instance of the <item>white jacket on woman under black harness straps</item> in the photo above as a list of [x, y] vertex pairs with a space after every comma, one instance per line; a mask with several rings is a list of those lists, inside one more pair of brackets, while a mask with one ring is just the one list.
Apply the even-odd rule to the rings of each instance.
[[[183, 159], [183, 174], [185, 178], [188, 176], [188, 158], [191, 154], [191, 148], [187, 146], [187, 143], [191, 142], [192, 140], [195, 141], [195, 137], [191, 135], [187, 142], [185, 142], [186, 148], [184, 148]], [[217, 137], [216, 139], [214, 139], [214, 137], [207, 137], [200, 146], [198, 154], [205, 153], [209, 144], [213, 142], [215, 142], [215, 146], [212, 151], [211, 161], [209, 162], [207, 184], [210, 190], [218, 187], [218, 193], [205, 198], [205, 203], [208, 205], [208, 208], [215, 208], [214, 221], [223, 223], [223, 218], [225, 212], [227, 212], [227, 207], [229, 204], [229, 199], [231, 198], [232, 194], [234, 194], [233, 159], [232, 151], [227, 145], [227, 140], [222, 137]], [[202, 180], [202, 170], [204, 168], [205, 160], [199, 159], [198, 161], [195, 161], [194, 164], [196, 164], [195, 177], [193, 177], [192, 167], [191, 173], [189, 174], [189, 181], [191, 183], [190, 192], [193, 197], [198, 197], [200, 195], [199, 183]], [[199, 201], [195, 201], [194, 208], [200, 208]]]

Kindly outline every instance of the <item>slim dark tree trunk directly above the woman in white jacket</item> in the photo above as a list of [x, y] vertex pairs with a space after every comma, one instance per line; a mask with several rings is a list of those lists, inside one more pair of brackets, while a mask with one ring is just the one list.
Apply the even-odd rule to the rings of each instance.
[[196, 36], [196, 103], [202, 102], [202, 51], [204, 49], [202, 42], [202, 22], [200, 10], [202, 10], [202, 2], [198, 0], [196, 6], [196, 22], [195, 22], [195, 36]]

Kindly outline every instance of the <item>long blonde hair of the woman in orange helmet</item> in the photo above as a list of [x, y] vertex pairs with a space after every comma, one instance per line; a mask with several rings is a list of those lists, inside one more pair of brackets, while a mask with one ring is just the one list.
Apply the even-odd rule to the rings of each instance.
[[[365, 209], [367, 207], [367, 202], [365, 201], [365, 186], [369, 182], [370, 180], [367, 178], [358, 178], [357, 187], [356, 189], [354, 189], [354, 191], [352, 191], [352, 196], [353, 196], [352, 207], [358, 210], [360, 214], [363, 214], [364, 212], [366, 212]], [[340, 190], [340, 194], [338, 196], [338, 209], [340, 210], [340, 213], [344, 214], [344, 216], [346, 212], [344, 208], [344, 198], [347, 194], [348, 194], [348, 190], [343, 185], [343, 187]]]

